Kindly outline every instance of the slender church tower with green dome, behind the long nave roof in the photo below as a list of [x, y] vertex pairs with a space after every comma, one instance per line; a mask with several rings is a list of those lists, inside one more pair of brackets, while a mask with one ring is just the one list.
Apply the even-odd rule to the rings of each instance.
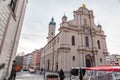
[[55, 27], [56, 22], [54, 22], [54, 18], [52, 17], [50, 23], [49, 23], [49, 31], [48, 31], [48, 42], [55, 36]]

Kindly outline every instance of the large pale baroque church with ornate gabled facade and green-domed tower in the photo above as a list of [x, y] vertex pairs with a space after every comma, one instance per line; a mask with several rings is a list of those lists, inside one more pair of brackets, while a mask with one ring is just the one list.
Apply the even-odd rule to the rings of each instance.
[[74, 19], [62, 17], [55, 35], [54, 18], [49, 23], [48, 43], [41, 54], [41, 68], [47, 71], [70, 71], [72, 67], [106, 65], [106, 35], [100, 24], [95, 25], [93, 11], [83, 4], [74, 11]]

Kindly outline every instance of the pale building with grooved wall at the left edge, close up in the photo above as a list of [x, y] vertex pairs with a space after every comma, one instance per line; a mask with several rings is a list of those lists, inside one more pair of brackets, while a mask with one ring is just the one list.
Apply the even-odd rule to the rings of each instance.
[[15, 59], [28, 0], [0, 0], [0, 80], [8, 78]]

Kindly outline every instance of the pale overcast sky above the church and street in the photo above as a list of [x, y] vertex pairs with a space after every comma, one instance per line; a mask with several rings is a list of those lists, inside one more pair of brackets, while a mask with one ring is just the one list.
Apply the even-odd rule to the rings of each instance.
[[95, 24], [105, 31], [108, 52], [120, 54], [120, 0], [29, 0], [17, 53], [31, 53], [47, 43], [48, 24], [56, 22], [56, 34], [64, 13], [73, 19], [73, 11], [86, 4], [93, 10]]

